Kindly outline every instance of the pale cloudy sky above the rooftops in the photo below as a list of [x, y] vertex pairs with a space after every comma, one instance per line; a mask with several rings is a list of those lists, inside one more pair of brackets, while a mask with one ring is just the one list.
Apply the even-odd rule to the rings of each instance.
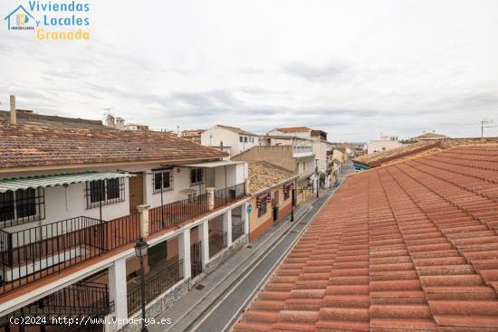
[[[498, 125], [498, 1], [86, 3], [88, 41], [38, 41], [3, 20], [0, 109], [14, 94], [42, 114], [110, 109], [172, 130], [308, 126], [335, 142]], [[2, 18], [17, 5], [29, 6], [2, 0]]]

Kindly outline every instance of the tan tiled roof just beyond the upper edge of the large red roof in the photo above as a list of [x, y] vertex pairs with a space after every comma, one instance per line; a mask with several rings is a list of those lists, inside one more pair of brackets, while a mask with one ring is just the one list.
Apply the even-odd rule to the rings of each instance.
[[381, 165], [392, 164], [396, 161], [406, 160], [407, 158], [421, 157], [426, 155], [429, 150], [431, 152], [437, 152], [449, 147], [497, 143], [498, 138], [443, 138], [439, 140], [405, 144], [402, 147], [395, 147], [382, 152], [362, 155], [355, 158], [353, 161], [355, 163], [373, 168]]

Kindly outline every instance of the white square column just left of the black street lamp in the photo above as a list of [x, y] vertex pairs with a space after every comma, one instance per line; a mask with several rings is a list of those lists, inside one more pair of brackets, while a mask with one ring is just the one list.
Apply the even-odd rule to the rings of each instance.
[[[127, 299], [127, 284], [126, 284], [126, 259], [114, 261], [109, 267], [109, 298], [114, 301], [114, 313], [111, 318], [126, 319], [128, 318], [128, 299]], [[107, 330], [118, 330], [120, 325], [106, 324]]]

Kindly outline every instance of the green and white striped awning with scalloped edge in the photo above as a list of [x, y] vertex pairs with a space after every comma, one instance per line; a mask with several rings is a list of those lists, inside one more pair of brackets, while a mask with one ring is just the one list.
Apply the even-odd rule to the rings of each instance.
[[72, 173], [72, 174], [58, 174], [58, 175], [35, 175], [27, 177], [14, 177], [7, 179], [0, 179], [0, 193], [17, 189], [27, 188], [44, 188], [47, 186], [55, 185], [71, 185], [79, 184], [87, 181], [97, 181], [105, 179], [116, 179], [122, 177], [135, 176], [128, 173], [114, 173], [114, 172], [85, 172], [85, 173]]

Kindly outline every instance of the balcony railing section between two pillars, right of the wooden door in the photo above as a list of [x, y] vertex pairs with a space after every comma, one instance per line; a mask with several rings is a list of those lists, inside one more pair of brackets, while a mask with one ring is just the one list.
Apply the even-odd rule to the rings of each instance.
[[207, 194], [199, 194], [191, 199], [158, 206], [148, 210], [148, 230], [149, 232], [166, 230], [208, 211]]

